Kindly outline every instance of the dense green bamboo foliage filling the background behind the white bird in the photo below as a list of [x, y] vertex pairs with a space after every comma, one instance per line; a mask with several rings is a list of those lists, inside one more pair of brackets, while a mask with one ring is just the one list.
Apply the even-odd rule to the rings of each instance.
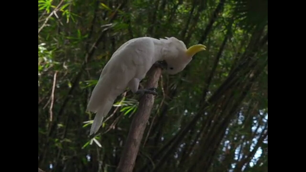
[[267, 0], [39, 0], [38, 27], [39, 168], [115, 171], [139, 97], [91, 138], [91, 91], [125, 41], [175, 36], [207, 51], [163, 73], [134, 170], [267, 171]]

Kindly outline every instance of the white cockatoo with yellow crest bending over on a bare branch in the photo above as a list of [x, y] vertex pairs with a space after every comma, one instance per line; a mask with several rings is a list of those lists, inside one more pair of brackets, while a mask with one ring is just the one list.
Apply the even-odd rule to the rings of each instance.
[[96, 133], [115, 99], [129, 87], [133, 93], [151, 93], [151, 89], [138, 89], [140, 81], [155, 62], [165, 61], [169, 74], [181, 72], [194, 54], [205, 50], [202, 44], [186, 48], [175, 37], [155, 39], [135, 38], [118, 48], [104, 66], [98, 83], [92, 91], [87, 110], [96, 113], [90, 135]]

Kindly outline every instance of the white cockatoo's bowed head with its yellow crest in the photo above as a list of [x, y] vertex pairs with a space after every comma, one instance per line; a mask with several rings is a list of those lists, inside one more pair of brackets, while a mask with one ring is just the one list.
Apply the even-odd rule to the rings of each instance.
[[187, 49], [183, 41], [174, 37], [167, 38], [165, 41], [165, 46], [162, 50], [163, 59], [167, 63], [166, 72], [171, 75], [181, 72], [192, 60], [192, 57], [197, 52], [203, 50], [206, 50], [206, 46], [202, 44], [197, 44]]

